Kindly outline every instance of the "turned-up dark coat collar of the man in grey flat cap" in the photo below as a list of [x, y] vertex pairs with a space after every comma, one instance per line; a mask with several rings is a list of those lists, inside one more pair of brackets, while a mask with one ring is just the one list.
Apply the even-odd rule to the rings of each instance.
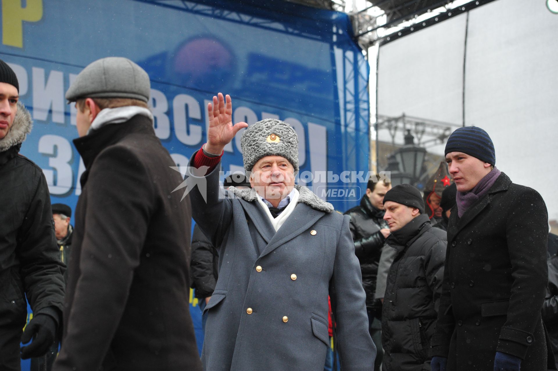
[[150, 119], [142, 115], [136, 115], [126, 123], [107, 125], [90, 132], [86, 136], [74, 139], [74, 146], [81, 155], [85, 165], [85, 171], [80, 178], [81, 186], [83, 187], [87, 181], [89, 169], [95, 157], [97, 157], [104, 148], [121, 141], [122, 138], [129, 134], [141, 132], [155, 135]]

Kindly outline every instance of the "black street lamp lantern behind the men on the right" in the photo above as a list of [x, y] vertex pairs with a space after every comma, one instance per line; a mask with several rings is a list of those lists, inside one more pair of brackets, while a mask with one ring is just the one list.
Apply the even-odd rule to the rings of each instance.
[[425, 156], [426, 149], [415, 145], [415, 137], [407, 129], [405, 145], [388, 157], [386, 170], [391, 171], [392, 184], [394, 186], [405, 183], [415, 185], [419, 180]]

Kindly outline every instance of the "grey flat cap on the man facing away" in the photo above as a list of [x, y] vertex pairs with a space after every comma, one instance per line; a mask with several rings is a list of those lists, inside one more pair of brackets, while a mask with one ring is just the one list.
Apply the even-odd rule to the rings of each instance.
[[149, 100], [149, 75], [123, 57], [99, 59], [84, 68], [66, 91], [68, 102], [83, 98], [133, 98]]

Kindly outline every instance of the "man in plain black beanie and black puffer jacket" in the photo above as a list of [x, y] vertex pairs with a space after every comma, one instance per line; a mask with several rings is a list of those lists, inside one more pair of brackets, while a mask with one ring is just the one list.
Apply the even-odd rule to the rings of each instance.
[[382, 309], [383, 371], [430, 370], [428, 346], [439, 306], [446, 233], [430, 225], [422, 196], [410, 184], [393, 187], [384, 197], [397, 250], [389, 268]]

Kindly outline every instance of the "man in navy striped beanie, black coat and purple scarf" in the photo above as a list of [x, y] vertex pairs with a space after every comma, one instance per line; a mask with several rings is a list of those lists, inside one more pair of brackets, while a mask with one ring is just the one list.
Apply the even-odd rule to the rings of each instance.
[[456, 129], [445, 156], [458, 192], [432, 370], [554, 368], [547, 364], [541, 321], [548, 237], [542, 197], [494, 166], [494, 146], [483, 129]]

